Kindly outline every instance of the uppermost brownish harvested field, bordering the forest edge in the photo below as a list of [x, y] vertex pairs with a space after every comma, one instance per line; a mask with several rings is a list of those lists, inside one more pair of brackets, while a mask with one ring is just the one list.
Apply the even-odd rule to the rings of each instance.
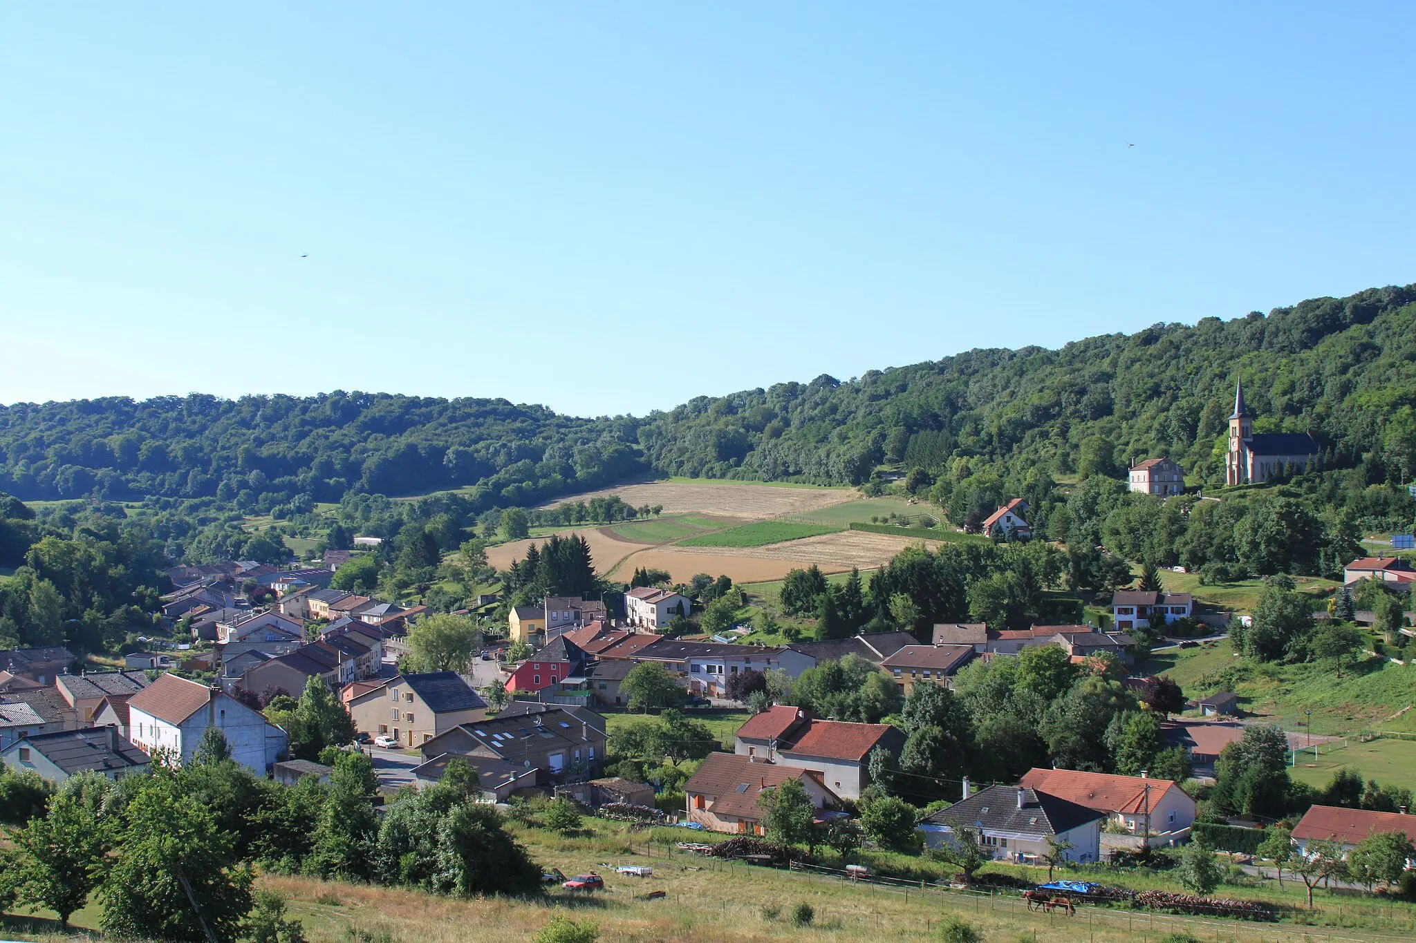
[[545, 506], [554, 508], [610, 495], [619, 495], [636, 508], [663, 505], [664, 513], [704, 513], [746, 520], [801, 515], [860, 498], [860, 492], [854, 488], [776, 488], [746, 482], [647, 482], [571, 495]]

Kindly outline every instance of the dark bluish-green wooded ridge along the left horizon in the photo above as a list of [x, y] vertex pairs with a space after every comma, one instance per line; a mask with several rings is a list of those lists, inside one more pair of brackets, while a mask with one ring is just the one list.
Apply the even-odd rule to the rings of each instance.
[[24, 500], [219, 498], [270, 510], [480, 485], [521, 505], [637, 469], [632, 420], [506, 400], [334, 392], [0, 407], [0, 491]]

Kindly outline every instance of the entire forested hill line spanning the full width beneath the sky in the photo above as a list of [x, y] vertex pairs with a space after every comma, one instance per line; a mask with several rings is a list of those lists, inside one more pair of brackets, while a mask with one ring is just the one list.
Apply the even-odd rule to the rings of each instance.
[[1165, 454], [1206, 478], [1238, 376], [1257, 431], [1311, 431], [1334, 465], [1365, 457], [1409, 478], [1413, 303], [1416, 286], [1374, 288], [1061, 351], [970, 351], [845, 383], [820, 376], [698, 397], [644, 418], [343, 392], [21, 403], [0, 407], [0, 491], [300, 510], [348, 491], [476, 486], [481, 510], [650, 469], [860, 484], [881, 462], [937, 469], [960, 455], [1068, 474], [1079, 461]]

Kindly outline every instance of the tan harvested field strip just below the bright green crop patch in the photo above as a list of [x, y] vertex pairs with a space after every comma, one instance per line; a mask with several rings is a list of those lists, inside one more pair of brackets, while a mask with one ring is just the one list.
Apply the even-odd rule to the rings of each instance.
[[[841, 530], [817, 537], [803, 537], [765, 547], [651, 547], [624, 557], [620, 568], [654, 567], [668, 570], [675, 581], [688, 581], [695, 573], [726, 574], [733, 582], [766, 582], [783, 578], [789, 570], [816, 564], [824, 573], [843, 573], [851, 567], [872, 570], [896, 553], [919, 543], [862, 530]], [[933, 550], [937, 541], [927, 541]]]

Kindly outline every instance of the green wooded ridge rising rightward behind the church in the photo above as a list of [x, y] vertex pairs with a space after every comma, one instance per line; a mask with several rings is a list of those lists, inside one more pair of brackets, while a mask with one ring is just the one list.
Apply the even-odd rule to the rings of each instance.
[[1255, 431], [1313, 433], [1342, 465], [1381, 451], [1399, 465], [1393, 474], [1409, 476], [1413, 300], [1416, 286], [1374, 288], [1061, 351], [969, 351], [848, 383], [820, 376], [700, 397], [651, 416], [639, 438], [649, 461], [671, 474], [858, 484], [881, 461], [939, 469], [956, 455], [1029, 458], [1068, 474], [1083, 443], [1100, 435], [1114, 447], [1113, 465], [1168, 455], [1214, 478], [1242, 375]]

